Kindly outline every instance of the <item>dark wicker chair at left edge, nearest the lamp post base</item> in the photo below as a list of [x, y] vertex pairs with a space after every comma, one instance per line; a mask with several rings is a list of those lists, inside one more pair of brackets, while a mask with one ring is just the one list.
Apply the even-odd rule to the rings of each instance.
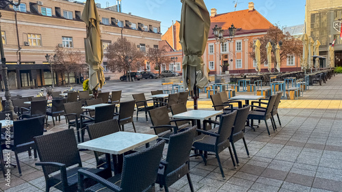
[[30, 118], [27, 120], [18, 120], [13, 122], [14, 126], [14, 140], [10, 142], [10, 148], [6, 144], [1, 145], [2, 150], [8, 149], [14, 152], [16, 156], [16, 166], [18, 167], [19, 176], [21, 176], [21, 165], [19, 163], [18, 154], [21, 152], [29, 152], [31, 157], [31, 150], [34, 150], [34, 159], [37, 158], [36, 146], [34, 144], [34, 137], [43, 135], [44, 133], [45, 116]]

